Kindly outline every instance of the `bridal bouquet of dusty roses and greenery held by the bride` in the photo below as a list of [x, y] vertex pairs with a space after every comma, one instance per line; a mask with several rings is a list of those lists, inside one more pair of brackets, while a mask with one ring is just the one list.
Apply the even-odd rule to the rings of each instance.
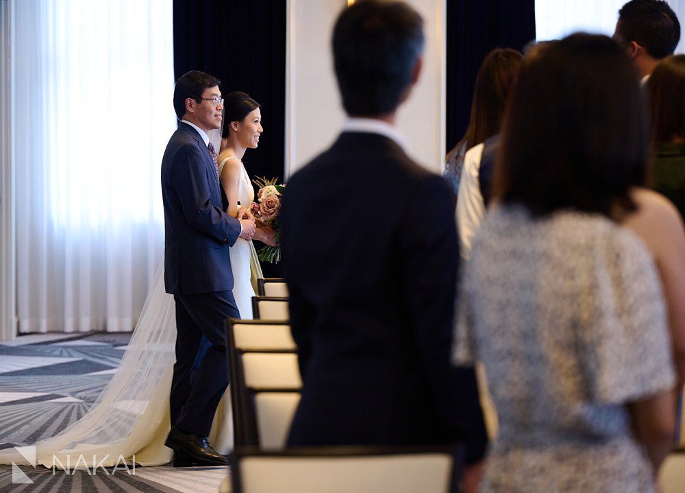
[[264, 245], [257, 252], [262, 262], [278, 263], [281, 260], [280, 232], [278, 227], [278, 213], [281, 210], [281, 197], [286, 191], [285, 184], [279, 184], [278, 178], [253, 178], [252, 182], [259, 187], [257, 202], [250, 206], [252, 215], [257, 221], [257, 227], [273, 232], [276, 246]]

